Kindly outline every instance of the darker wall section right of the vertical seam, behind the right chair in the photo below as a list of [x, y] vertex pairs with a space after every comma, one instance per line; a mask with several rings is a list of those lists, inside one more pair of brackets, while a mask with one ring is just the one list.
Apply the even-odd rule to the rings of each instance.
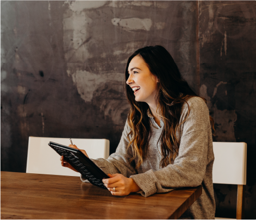
[[[245, 219], [256, 219], [255, 9], [252, 0], [199, 1], [200, 94], [215, 120], [214, 140], [247, 143]], [[236, 186], [214, 187], [216, 216], [235, 218]]]

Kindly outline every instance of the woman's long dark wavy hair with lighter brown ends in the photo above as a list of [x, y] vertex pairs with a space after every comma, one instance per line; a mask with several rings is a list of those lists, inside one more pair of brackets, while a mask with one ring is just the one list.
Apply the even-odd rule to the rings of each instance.
[[[179, 69], [172, 56], [162, 46], [148, 46], [135, 51], [127, 61], [125, 77], [129, 78], [128, 67], [134, 56], [140, 56], [147, 64], [149, 71], [157, 76], [159, 83], [157, 88], [157, 112], [164, 121], [164, 128], [158, 141], [161, 143], [161, 161], [159, 167], [166, 167], [171, 164], [179, 152], [179, 140], [176, 132], [179, 126], [189, 116], [190, 108], [188, 102], [191, 97], [199, 97], [190, 89], [188, 83], [182, 78]], [[136, 102], [133, 90], [126, 84], [126, 97], [130, 104], [128, 114], [128, 125], [131, 129], [127, 135], [129, 144], [132, 147], [134, 156], [130, 162], [138, 159], [136, 168], [139, 168], [147, 154], [148, 141], [151, 138], [151, 126], [147, 116], [148, 104]], [[202, 97], [201, 97], [202, 98]], [[206, 100], [202, 98], [206, 103]], [[183, 122], [180, 121], [182, 105], [188, 105], [188, 115]], [[211, 127], [214, 130], [214, 121], [210, 117]], [[160, 153], [160, 152], [159, 152]]]

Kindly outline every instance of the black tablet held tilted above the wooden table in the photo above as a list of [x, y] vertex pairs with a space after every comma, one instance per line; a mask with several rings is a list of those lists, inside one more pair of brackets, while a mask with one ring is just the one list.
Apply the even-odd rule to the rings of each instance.
[[55, 152], [57, 152], [60, 156], [64, 156], [64, 159], [80, 174], [83, 174], [91, 184], [101, 188], [107, 188], [104, 186], [102, 179], [108, 179], [108, 175], [105, 174], [101, 168], [99, 168], [80, 150], [67, 147], [59, 143], [54, 143], [52, 141], [50, 141], [48, 145], [53, 148]]

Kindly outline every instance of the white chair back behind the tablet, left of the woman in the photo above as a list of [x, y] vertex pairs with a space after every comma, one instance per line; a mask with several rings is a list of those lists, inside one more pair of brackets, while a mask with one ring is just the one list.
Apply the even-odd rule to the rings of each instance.
[[[26, 173], [80, 176], [80, 173], [61, 166], [60, 155], [48, 146], [49, 141], [68, 146], [69, 139], [53, 137], [29, 137]], [[107, 159], [109, 140], [106, 139], [72, 139], [79, 149], [84, 149], [89, 158]]]

